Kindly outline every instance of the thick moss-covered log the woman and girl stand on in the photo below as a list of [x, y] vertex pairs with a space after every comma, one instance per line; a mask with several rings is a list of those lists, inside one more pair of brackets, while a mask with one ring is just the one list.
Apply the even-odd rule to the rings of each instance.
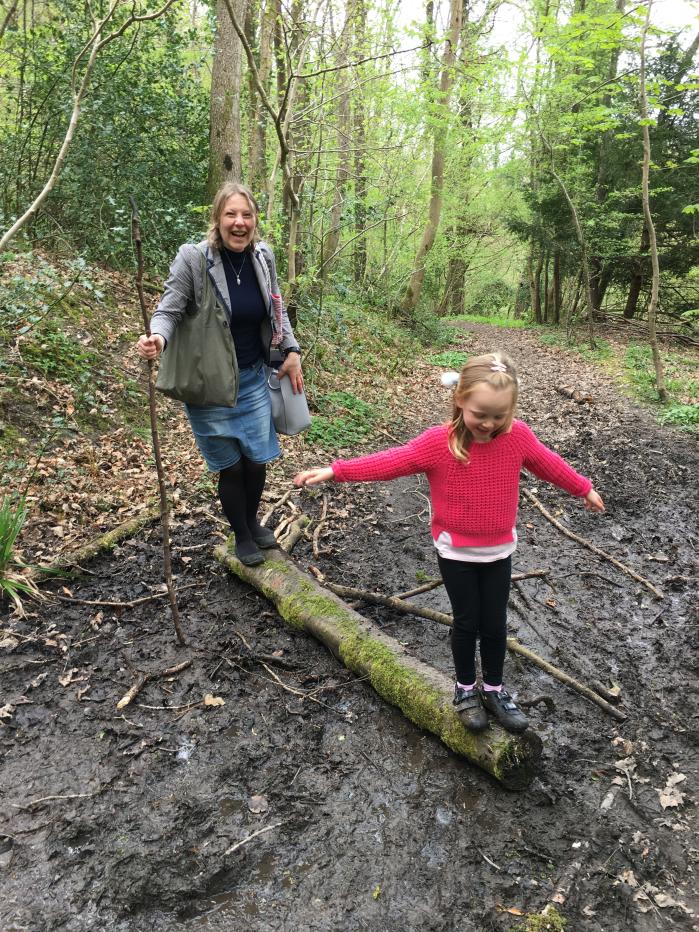
[[542, 747], [531, 729], [513, 735], [492, 723], [480, 734], [469, 732], [452, 706], [454, 686], [449, 677], [412, 657], [395, 638], [322, 588], [282, 551], [267, 551], [265, 562], [254, 567], [243, 566], [226, 545], [216, 547], [215, 555], [273, 602], [290, 627], [316, 637], [420, 728], [437, 735], [507, 789], [529, 785]]

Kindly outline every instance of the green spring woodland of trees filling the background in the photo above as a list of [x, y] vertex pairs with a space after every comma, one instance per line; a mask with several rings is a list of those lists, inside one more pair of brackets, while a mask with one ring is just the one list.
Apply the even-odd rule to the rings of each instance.
[[645, 124], [660, 311], [682, 329], [699, 315], [699, 33], [691, 6], [671, 30], [648, 6], [3, 0], [2, 244], [29, 209], [31, 243], [130, 268], [133, 196], [162, 275], [243, 179], [292, 308], [331, 282], [408, 322], [558, 323], [583, 312], [584, 251], [595, 314], [639, 320]]

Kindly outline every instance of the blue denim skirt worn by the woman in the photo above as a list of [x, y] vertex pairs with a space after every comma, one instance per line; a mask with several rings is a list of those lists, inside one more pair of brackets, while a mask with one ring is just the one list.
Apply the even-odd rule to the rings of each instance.
[[185, 411], [199, 452], [212, 472], [228, 469], [241, 456], [269, 463], [281, 454], [262, 360], [240, 370], [234, 408], [185, 404]]

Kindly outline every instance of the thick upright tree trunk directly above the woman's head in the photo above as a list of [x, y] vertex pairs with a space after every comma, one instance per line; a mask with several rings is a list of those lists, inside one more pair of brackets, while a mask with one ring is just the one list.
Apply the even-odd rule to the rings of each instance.
[[[243, 22], [247, 0], [230, 0]], [[211, 72], [209, 180], [211, 197], [226, 181], [241, 181], [240, 87], [243, 50], [225, 0], [216, 0], [216, 43]]]

